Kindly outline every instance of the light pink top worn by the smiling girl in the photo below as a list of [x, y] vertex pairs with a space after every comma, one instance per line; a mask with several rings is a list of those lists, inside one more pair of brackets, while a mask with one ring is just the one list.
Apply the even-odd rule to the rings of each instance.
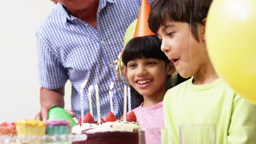
[[132, 111], [137, 117], [137, 122], [145, 129], [147, 144], [161, 143], [161, 129], [165, 128], [162, 102], [150, 107], [142, 107], [144, 103]]

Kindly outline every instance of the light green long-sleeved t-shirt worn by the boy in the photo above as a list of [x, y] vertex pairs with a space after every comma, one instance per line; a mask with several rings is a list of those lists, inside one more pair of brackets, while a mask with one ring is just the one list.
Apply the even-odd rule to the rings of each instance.
[[256, 106], [219, 79], [193, 85], [193, 77], [169, 89], [164, 98], [165, 126], [179, 143], [179, 126], [216, 125], [216, 143], [256, 143]]

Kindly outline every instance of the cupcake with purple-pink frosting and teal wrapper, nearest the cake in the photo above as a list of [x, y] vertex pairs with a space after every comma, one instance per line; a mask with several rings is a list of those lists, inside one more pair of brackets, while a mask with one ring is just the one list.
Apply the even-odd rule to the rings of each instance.
[[52, 120], [46, 122], [47, 135], [68, 135], [70, 123], [66, 119]]

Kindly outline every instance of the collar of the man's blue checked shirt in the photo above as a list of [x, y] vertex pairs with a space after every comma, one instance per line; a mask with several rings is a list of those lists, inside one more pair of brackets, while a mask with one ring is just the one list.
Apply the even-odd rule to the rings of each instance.
[[[99, 0], [99, 1], [100, 1], [100, 3], [98, 5], [98, 11], [100, 11], [101, 9], [106, 7], [107, 2], [108, 3], [114, 3], [113, 0]], [[73, 20], [77, 19], [77, 17], [74, 17], [74, 16], [70, 15], [68, 13], [68, 11], [63, 7], [62, 4], [58, 3], [57, 7], [60, 9], [60, 17], [61, 17], [61, 20], [62, 20], [63, 23], [66, 23], [67, 20], [73, 21]]]

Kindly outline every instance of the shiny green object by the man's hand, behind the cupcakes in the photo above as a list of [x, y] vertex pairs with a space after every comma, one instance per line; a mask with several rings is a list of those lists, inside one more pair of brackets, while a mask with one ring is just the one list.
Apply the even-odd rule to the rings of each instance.
[[57, 120], [57, 119], [66, 119], [67, 121], [71, 122], [71, 128], [74, 127], [75, 121], [74, 119], [62, 108], [53, 105], [51, 110], [48, 111], [48, 119], [49, 120]]

